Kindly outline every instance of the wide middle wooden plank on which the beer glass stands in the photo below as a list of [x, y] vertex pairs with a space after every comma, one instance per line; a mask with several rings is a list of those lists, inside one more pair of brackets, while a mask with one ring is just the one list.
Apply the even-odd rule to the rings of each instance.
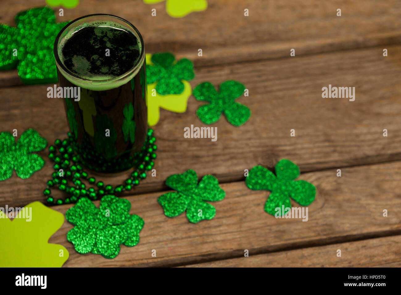
[[[249, 89], [249, 97], [237, 101], [247, 105], [252, 116], [241, 127], [222, 116], [217, 141], [184, 138], [184, 127], [205, 126], [196, 116], [203, 102], [193, 97], [188, 110], [176, 114], [161, 110], [154, 126], [158, 158], [156, 177], [148, 177], [135, 190], [143, 193], [166, 189], [166, 177], [194, 169], [198, 176], [214, 174], [221, 182], [243, 179], [244, 169], [254, 165], [272, 168], [287, 158], [301, 171], [380, 163], [401, 159], [401, 47], [389, 47], [389, 57], [380, 48], [341, 51], [277, 61], [240, 63], [195, 68], [192, 87], [203, 81], [213, 84], [234, 79]], [[356, 87], [356, 99], [322, 98], [328, 84]], [[0, 88], [1, 130], [16, 128], [19, 135], [34, 127], [49, 142], [64, 138], [68, 126], [61, 99], [47, 98], [47, 85]], [[383, 137], [383, 129], [388, 137]], [[296, 136], [290, 136], [290, 130]], [[45, 151], [40, 153], [47, 155]], [[47, 159], [47, 157], [45, 158]], [[0, 183], [0, 205], [26, 205], [45, 200], [45, 183], [53, 172], [45, 167], [29, 179], [14, 175]], [[128, 177], [103, 179], [119, 185]], [[56, 189], [54, 197], [61, 193]]]

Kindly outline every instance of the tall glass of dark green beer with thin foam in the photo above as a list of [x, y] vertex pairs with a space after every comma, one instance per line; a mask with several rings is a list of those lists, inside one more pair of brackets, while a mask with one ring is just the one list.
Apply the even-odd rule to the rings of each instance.
[[139, 31], [110, 14], [82, 16], [60, 31], [54, 55], [59, 87], [79, 93], [63, 100], [81, 163], [105, 175], [135, 166], [148, 128]]

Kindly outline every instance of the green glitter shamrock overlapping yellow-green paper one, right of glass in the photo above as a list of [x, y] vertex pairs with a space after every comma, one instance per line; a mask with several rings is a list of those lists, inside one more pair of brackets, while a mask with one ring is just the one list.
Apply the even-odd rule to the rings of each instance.
[[189, 59], [174, 63], [174, 55], [166, 52], [155, 53], [151, 61], [154, 65], [146, 65], [146, 80], [148, 84], [157, 82], [156, 92], [159, 94], [181, 94], [184, 91], [181, 80], [192, 80], [195, 76]]

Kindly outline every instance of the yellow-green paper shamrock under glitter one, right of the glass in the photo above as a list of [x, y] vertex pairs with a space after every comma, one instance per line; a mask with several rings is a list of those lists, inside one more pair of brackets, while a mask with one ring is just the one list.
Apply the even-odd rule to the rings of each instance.
[[[164, 59], [160, 59], [163, 55], [158, 55], [156, 57], [156, 60], [158, 60], [159, 63], [170, 63], [170, 61], [164, 62]], [[164, 55], [165, 59], [168, 60], [169, 58], [171, 59], [171, 55]], [[172, 58], [174, 61], [174, 57]], [[147, 65], [153, 65], [152, 63], [152, 55], [146, 54], [146, 64]], [[152, 76], [152, 74], [149, 74], [148, 68], [146, 69], [146, 79], [147, 83], [149, 83], [149, 76]], [[152, 68], [150, 71], [152, 71]], [[160, 108], [163, 108], [164, 110], [168, 110], [170, 112], [176, 112], [176, 113], [183, 113], [186, 111], [186, 106], [188, 103], [188, 98], [190, 97], [192, 93], [191, 85], [185, 81], [181, 81], [184, 84], [184, 91], [181, 94], [167, 94], [167, 95], [161, 95], [158, 92], [156, 92], [156, 83], [151, 83], [148, 84], [147, 86], [147, 94], [146, 94], [146, 104], [148, 106], [148, 124], [149, 126], [154, 126], [157, 124], [160, 118]]]

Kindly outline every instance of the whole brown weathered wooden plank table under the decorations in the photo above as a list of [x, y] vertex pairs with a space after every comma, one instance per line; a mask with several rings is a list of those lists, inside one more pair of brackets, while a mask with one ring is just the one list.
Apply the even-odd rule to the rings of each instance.
[[[15, 25], [14, 15], [28, 4], [5, 2], [0, 22]], [[195, 114], [202, 102], [191, 96], [184, 114], [161, 110], [154, 126], [157, 176], [123, 196], [132, 203], [131, 214], [145, 220], [140, 243], [122, 246], [110, 260], [81, 255], [66, 240], [72, 225], [65, 221], [49, 240], [68, 249], [64, 266], [401, 266], [401, 1], [208, 2], [206, 11], [178, 19], [166, 14], [164, 2], [141, 0], [83, 0], [57, 16], [58, 21], [92, 13], [121, 16], [142, 33], [147, 53], [170, 51], [191, 59], [192, 87], [227, 79], [244, 83], [249, 97], [238, 102], [252, 111], [241, 127], [225, 118], [213, 124], [218, 139], [212, 142], [183, 136], [185, 126], [204, 126]], [[338, 8], [342, 16], [336, 16]], [[322, 87], [329, 84], [355, 87], [355, 101], [322, 98]], [[46, 97], [49, 85], [21, 85], [16, 71], [7, 71], [0, 73], [0, 86], [1, 131], [35, 128], [49, 142], [65, 137], [62, 100]], [[14, 172], [0, 183], [0, 205], [45, 201], [42, 191], [53, 168], [47, 151], [39, 154], [46, 160], [41, 171], [29, 179]], [[275, 219], [263, 210], [269, 192], [245, 185], [244, 169], [258, 164], [273, 169], [282, 158], [299, 165], [300, 179], [316, 185], [308, 222]], [[156, 200], [168, 191], [164, 181], [187, 169], [200, 177], [215, 175], [226, 191], [223, 201], [213, 203], [213, 220], [191, 224], [185, 214], [164, 216]], [[107, 182], [117, 185], [126, 177]], [[52, 208], [64, 214], [70, 207]]]

